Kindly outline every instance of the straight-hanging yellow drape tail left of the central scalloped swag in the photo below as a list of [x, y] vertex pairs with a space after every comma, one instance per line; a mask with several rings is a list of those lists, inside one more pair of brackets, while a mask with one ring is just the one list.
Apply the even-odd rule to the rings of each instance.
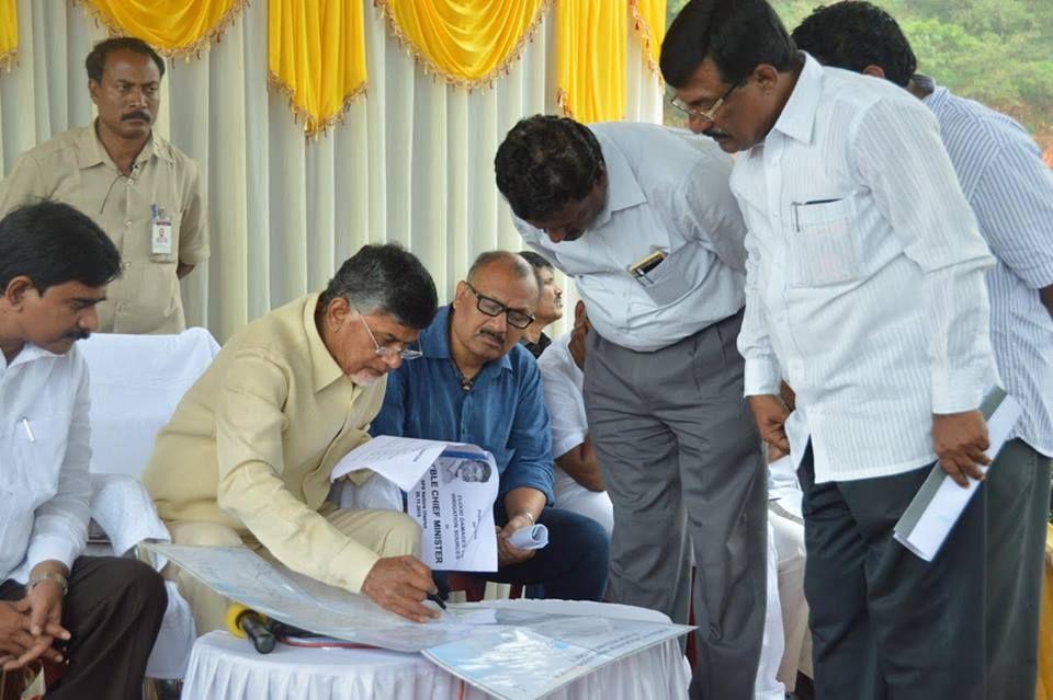
[[270, 0], [267, 62], [304, 131], [339, 121], [365, 92], [362, 0]]

